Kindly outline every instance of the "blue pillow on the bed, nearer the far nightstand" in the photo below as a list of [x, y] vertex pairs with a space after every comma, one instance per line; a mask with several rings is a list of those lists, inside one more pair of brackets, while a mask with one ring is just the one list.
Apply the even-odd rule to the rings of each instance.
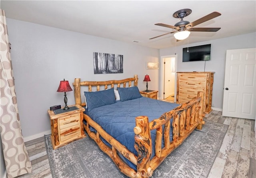
[[142, 97], [137, 86], [117, 88], [121, 101], [133, 100]]

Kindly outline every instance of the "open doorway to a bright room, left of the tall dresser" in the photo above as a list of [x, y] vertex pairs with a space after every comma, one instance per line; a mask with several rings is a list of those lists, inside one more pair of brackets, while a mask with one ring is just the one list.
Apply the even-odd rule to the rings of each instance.
[[171, 102], [176, 102], [175, 94], [175, 67], [176, 67], [176, 55], [163, 56], [162, 57], [162, 89], [161, 99], [165, 99]]

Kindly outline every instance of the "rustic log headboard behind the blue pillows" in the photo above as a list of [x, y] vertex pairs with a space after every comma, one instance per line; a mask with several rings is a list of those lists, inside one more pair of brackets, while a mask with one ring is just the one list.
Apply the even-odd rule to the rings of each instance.
[[[132, 86], [132, 82], [134, 86], [138, 85], [138, 75], [134, 75], [134, 78], [126, 78], [123, 80], [108, 80], [108, 81], [84, 81], [81, 82], [80, 78], [75, 78], [75, 81], [73, 83], [74, 86], [74, 95], [75, 95], [75, 102], [76, 104], [79, 104], [80, 106], [85, 106], [85, 102], [82, 103], [81, 99], [81, 87], [82, 86], [87, 86], [82, 87], [82, 92], [85, 90], [88, 90], [89, 92], [92, 92], [92, 88], [96, 88], [95, 91], [100, 91], [100, 90], [106, 90], [107, 88], [114, 88], [114, 87], [130, 87]], [[128, 85], [128, 86], [127, 86]], [[110, 86], [110, 87], [109, 87]]]

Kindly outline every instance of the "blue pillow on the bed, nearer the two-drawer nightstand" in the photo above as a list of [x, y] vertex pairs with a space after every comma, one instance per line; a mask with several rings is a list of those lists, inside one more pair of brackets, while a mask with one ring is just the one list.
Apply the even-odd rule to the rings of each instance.
[[84, 95], [86, 97], [88, 111], [116, 102], [114, 88], [97, 92], [84, 92]]

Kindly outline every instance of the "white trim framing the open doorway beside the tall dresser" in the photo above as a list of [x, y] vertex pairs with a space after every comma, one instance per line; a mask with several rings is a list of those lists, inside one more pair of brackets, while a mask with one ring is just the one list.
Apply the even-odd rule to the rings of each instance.
[[160, 88], [159, 88], [159, 99], [164, 99], [164, 59], [165, 58], [175, 58], [175, 76], [174, 76], [174, 102], [176, 102], [176, 92], [177, 92], [177, 54], [176, 55], [168, 55], [168, 56], [161, 56], [160, 61]]

